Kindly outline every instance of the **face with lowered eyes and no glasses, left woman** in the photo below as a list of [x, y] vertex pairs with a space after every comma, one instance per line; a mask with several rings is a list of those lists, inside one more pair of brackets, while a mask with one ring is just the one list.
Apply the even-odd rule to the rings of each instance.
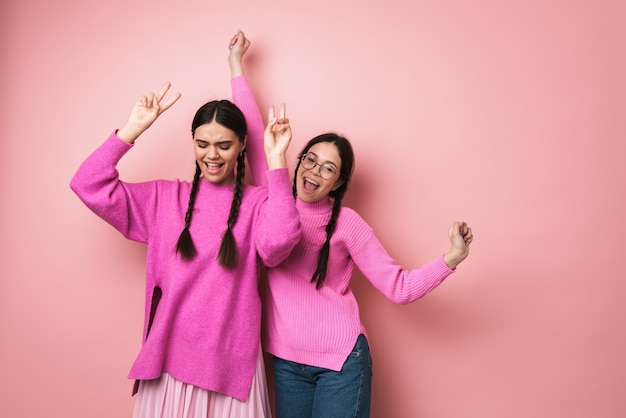
[[212, 121], [196, 128], [193, 142], [202, 177], [215, 184], [234, 184], [237, 157], [245, 147], [237, 134]]

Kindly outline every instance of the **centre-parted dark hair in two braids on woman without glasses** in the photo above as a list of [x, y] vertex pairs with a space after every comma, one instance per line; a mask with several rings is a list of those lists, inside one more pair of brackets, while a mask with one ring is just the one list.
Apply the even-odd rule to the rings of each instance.
[[[191, 122], [191, 134], [204, 124], [217, 122], [225, 128], [233, 131], [239, 138], [239, 142], [243, 143], [248, 134], [246, 119], [241, 110], [228, 100], [214, 100], [204, 104], [198, 111]], [[233, 201], [230, 205], [230, 214], [228, 215], [228, 223], [226, 232], [222, 237], [218, 260], [224, 267], [232, 267], [237, 263], [237, 243], [233, 235], [232, 228], [239, 217], [239, 207], [243, 197], [243, 181], [245, 177], [245, 148], [237, 156], [237, 179], [235, 182], [235, 191]], [[178, 237], [176, 243], [176, 252], [180, 253], [185, 260], [191, 260], [196, 256], [196, 246], [193, 243], [189, 226], [191, 225], [191, 217], [193, 215], [193, 207], [196, 202], [196, 194], [198, 192], [198, 184], [200, 182], [200, 166], [196, 161], [196, 172], [191, 185], [191, 193], [189, 194], [189, 206], [185, 214], [185, 227]]]

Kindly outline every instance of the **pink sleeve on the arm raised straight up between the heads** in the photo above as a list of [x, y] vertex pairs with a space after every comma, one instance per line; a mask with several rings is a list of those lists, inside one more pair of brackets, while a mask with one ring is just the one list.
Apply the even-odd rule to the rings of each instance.
[[263, 137], [265, 125], [261, 117], [261, 111], [254, 99], [254, 94], [248, 85], [245, 75], [232, 78], [231, 89], [233, 101], [241, 109], [246, 124], [248, 125], [248, 143], [246, 145], [246, 155], [248, 157], [248, 168], [252, 174], [255, 185], [265, 187], [267, 185], [265, 172], [267, 171], [267, 159], [263, 149]]

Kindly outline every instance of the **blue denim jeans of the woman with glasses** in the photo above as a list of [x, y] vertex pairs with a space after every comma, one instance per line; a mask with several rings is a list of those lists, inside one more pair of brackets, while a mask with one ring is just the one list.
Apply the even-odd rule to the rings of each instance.
[[367, 418], [372, 396], [372, 357], [359, 335], [341, 371], [274, 356], [276, 418]]

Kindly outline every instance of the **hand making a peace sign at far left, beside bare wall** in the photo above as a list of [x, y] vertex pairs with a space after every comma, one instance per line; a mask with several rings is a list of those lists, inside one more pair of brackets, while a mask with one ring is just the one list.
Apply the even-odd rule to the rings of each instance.
[[117, 130], [117, 136], [121, 140], [129, 144], [134, 143], [139, 135], [148, 129], [163, 112], [176, 103], [181, 96], [180, 93], [176, 93], [168, 100], [163, 101], [170, 86], [171, 84], [167, 82], [157, 94], [150, 92], [137, 99], [135, 106], [133, 106], [128, 115], [128, 119]]

